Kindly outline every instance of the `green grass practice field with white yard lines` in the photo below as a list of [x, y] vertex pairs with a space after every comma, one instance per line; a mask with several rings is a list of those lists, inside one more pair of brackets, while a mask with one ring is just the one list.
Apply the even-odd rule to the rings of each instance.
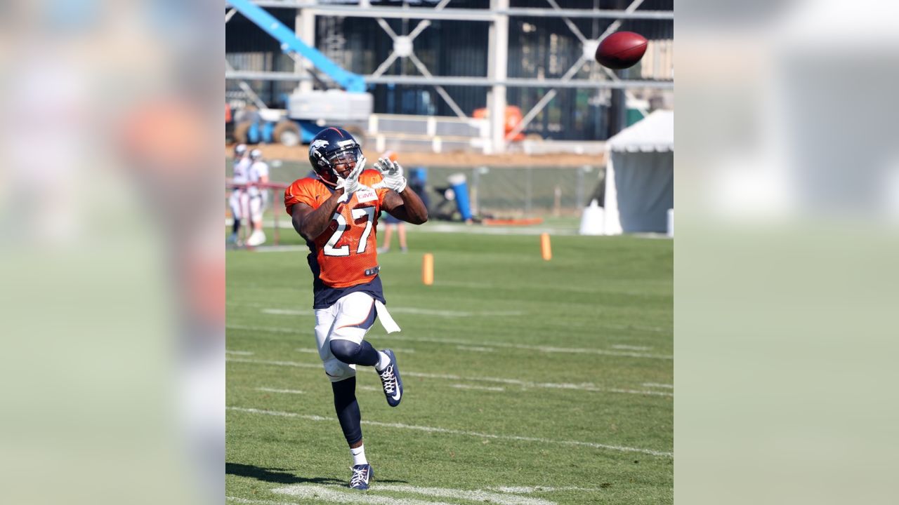
[[358, 379], [369, 492], [347, 488], [306, 252], [227, 253], [229, 501], [673, 501], [671, 241], [556, 236], [543, 261], [537, 236], [409, 240], [379, 257], [403, 331], [367, 337], [396, 350], [403, 403]]

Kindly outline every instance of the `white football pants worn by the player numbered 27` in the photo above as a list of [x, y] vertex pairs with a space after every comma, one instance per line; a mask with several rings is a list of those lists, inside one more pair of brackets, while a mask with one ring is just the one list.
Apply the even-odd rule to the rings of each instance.
[[356, 366], [334, 358], [331, 341], [346, 340], [361, 343], [375, 323], [375, 299], [368, 293], [350, 293], [333, 306], [316, 309], [316, 344], [318, 357], [325, 364], [325, 374], [331, 382], [356, 376]]

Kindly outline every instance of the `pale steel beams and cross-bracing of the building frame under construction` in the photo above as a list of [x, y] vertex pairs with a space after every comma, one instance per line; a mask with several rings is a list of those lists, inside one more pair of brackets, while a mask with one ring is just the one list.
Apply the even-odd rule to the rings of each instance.
[[[547, 0], [547, 4], [551, 8], [511, 8], [509, 0], [491, 0], [490, 9], [448, 9], [446, 5], [451, 0], [441, 0], [432, 7], [388, 7], [388, 6], [371, 6], [364, 0], [359, 5], [337, 5], [337, 4], [317, 4], [316, 2], [304, 0], [254, 0], [254, 4], [261, 7], [272, 8], [290, 8], [298, 9], [303, 17], [325, 15], [325, 16], [341, 16], [341, 17], [366, 17], [378, 20], [378, 25], [393, 40], [394, 48], [390, 55], [381, 62], [378, 68], [371, 74], [365, 75], [365, 82], [369, 84], [429, 84], [433, 85], [441, 98], [449, 105], [456, 115], [460, 118], [466, 118], [467, 115], [459, 108], [458, 104], [452, 100], [449, 93], [443, 88], [444, 85], [474, 85], [489, 86], [491, 91], [488, 95], [488, 107], [491, 118], [491, 137], [494, 146], [494, 152], [503, 152], [505, 144], [509, 139], [515, 137], [524, 128], [534, 120], [549, 102], [556, 97], [557, 90], [560, 88], [606, 88], [606, 89], [623, 89], [628, 97], [633, 97], [630, 91], [633, 88], [654, 88], [654, 89], [673, 89], [672, 81], [648, 81], [648, 80], [622, 80], [615, 75], [610, 69], [601, 67], [603, 72], [609, 77], [607, 81], [594, 81], [588, 79], [574, 79], [581, 68], [592, 60], [592, 51], [599, 45], [602, 39], [609, 36], [610, 33], [619, 29], [621, 22], [629, 19], [649, 19], [649, 20], [672, 20], [674, 13], [672, 11], [637, 11], [636, 9], [643, 4], [644, 0], [633, 0], [628, 8], [619, 10], [593, 10], [593, 9], [563, 9], [556, 3], [556, 0]], [[226, 22], [233, 13], [228, 13]], [[581, 41], [583, 45], [583, 54], [574, 62], [564, 75], [558, 79], [527, 79], [527, 78], [508, 78], [506, 68], [508, 67], [508, 34], [509, 34], [509, 18], [516, 16], [527, 17], [556, 17], [562, 18], [566, 26], [574, 36]], [[583, 35], [583, 32], [577, 28], [572, 19], [614, 19], [606, 31], [595, 40], [590, 40]], [[298, 16], [299, 19], [299, 16]], [[408, 35], [397, 35], [390, 28], [386, 19], [408, 19], [420, 20]], [[415, 56], [414, 40], [431, 25], [430, 20], [454, 20], [454, 21], [475, 21], [490, 22], [490, 48], [488, 55], [490, 61], [487, 66], [487, 76], [441, 76], [432, 75], [430, 70], [423, 62]], [[313, 23], [307, 22], [306, 26], [314, 26]], [[306, 37], [304, 37], [305, 39]], [[311, 40], [308, 40], [311, 41]], [[408, 58], [413, 65], [422, 73], [418, 75], [384, 75], [387, 69], [393, 65], [397, 58]], [[298, 68], [299, 70], [299, 68]], [[226, 73], [227, 79], [236, 79], [245, 87], [245, 79], [261, 79], [275, 81], [299, 81], [305, 83], [310, 80], [308, 70], [306, 74], [291, 74], [286, 72], [240, 72], [228, 68]], [[309, 85], [309, 84], [305, 84]], [[551, 87], [552, 89], [544, 95], [537, 104], [535, 104], [523, 120], [516, 128], [513, 128], [508, 134], [505, 134], [505, 88], [507, 86], [515, 87]], [[248, 86], [247, 86], [248, 87]], [[252, 95], [252, 93], [251, 93]], [[645, 110], [640, 110], [644, 115]]]

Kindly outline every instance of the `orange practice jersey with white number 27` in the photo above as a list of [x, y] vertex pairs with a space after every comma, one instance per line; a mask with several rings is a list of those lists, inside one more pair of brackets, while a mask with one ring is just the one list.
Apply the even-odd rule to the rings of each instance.
[[[360, 174], [359, 182], [370, 188], [381, 182], [381, 174], [366, 170]], [[293, 206], [298, 203], [315, 209], [331, 198], [331, 194], [317, 178], [299, 179], [284, 191], [284, 207], [288, 215], [292, 215]], [[385, 194], [386, 188], [356, 191], [350, 201], [337, 205], [331, 224], [309, 244], [309, 267], [325, 286], [348, 288], [378, 276], [375, 230]]]

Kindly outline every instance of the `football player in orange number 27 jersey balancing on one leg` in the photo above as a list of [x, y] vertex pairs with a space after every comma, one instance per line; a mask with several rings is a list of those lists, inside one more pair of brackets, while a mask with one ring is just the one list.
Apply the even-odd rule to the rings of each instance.
[[376, 317], [387, 332], [399, 331], [384, 306], [378, 277], [378, 216], [384, 210], [421, 225], [428, 220], [428, 210], [408, 188], [399, 164], [382, 158], [377, 170], [364, 170], [359, 143], [342, 128], [325, 128], [316, 135], [309, 145], [309, 162], [315, 177], [293, 182], [284, 192], [284, 205], [309, 247], [318, 355], [331, 379], [337, 419], [350, 445], [350, 487], [365, 490], [373, 473], [362, 445], [357, 365], [375, 368], [391, 407], [403, 399], [394, 352], [376, 350], [364, 340]]

